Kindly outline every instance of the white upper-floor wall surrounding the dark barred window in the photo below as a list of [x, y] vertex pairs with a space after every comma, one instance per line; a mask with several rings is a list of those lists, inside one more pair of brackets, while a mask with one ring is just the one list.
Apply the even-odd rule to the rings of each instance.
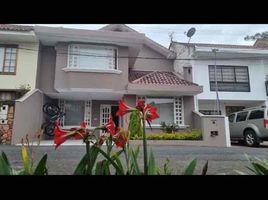
[[[210, 91], [208, 65], [214, 65], [214, 61], [194, 61], [193, 80], [203, 86], [203, 93], [198, 94], [198, 99], [214, 100], [215, 92]], [[261, 61], [225, 60], [217, 61], [217, 65], [248, 66], [250, 92], [219, 92], [221, 100], [266, 100], [264, 66]]]

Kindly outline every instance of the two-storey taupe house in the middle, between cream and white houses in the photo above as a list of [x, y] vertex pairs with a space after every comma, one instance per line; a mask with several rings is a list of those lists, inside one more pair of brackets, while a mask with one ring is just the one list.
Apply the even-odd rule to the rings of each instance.
[[[94, 31], [36, 26], [35, 33], [42, 49], [42, 92], [35, 98], [43, 95], [42, 105], [52, 101], [60, 106], [63, 128], [83, 120], [93, 128], [107, 123], [109, 115], [127, 128], [127, 116], [115, 115], [118, 100], [134, 106], [139, 98], [158, 107], [153, 131], [160, 131], [161, 121], [193, 126], [194, 96], [202, 87], [175, 73], [175, 54], [144, 34], [125, 25]], [[15, 134], [13, 143], [22, 133]]]

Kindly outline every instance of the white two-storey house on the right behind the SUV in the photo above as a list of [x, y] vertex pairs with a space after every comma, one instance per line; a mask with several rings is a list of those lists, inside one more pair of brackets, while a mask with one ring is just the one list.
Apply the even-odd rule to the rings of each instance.
[[195, 110], [216, 114], [216, 81], [222, 115], [267, 103], [267, 47], [173, 42], [169, 49], [177, 53], [176, 72], [204, 87]]

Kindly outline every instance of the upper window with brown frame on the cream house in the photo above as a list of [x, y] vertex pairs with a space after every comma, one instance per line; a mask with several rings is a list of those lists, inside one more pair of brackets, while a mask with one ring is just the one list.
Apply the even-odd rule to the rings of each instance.
[[17, 53], [15, 46], [0, 46], [0, 74], [16, 74]]

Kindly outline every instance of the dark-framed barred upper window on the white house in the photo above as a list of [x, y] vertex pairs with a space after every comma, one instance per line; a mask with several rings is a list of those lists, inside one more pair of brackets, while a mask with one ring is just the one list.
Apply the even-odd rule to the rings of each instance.
[[[247, 66], [217, 65], [218, 91], [250, 92], [249, 74]], [[215, 66], [209, 65], [210, 91], [216, 90]]]

